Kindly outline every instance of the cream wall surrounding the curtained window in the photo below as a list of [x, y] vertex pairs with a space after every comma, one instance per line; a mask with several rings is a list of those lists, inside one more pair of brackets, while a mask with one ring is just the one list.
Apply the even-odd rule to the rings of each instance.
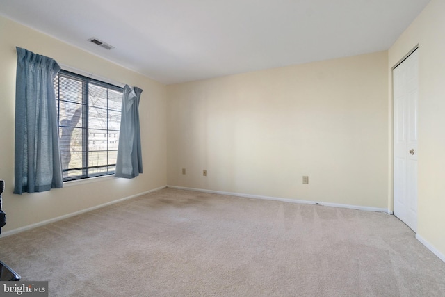
[[[165, 186], [165, 86], [3, 17], [0, 17], [0, 36], [0, 179], [6, 182], [3, 210], [7, 216], [2, 232]], [[131, 180], [98, 179], [44, 193], [13, 194], [16, 46], [50, 56], [60, 64], [143, 89], [140, 99], [142, 175]]]

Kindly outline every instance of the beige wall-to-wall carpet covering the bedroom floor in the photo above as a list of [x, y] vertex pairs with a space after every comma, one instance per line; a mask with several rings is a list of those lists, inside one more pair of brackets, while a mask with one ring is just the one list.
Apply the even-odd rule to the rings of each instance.
[[49, 296], [445, 296], [394, 216], [165, 188], [0, 239]]

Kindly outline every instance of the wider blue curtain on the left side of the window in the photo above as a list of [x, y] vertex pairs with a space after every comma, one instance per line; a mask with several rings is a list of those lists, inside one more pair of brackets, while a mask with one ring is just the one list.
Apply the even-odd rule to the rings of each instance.
[[52, 58], [17, 47], [15, 89], [15, 188], [33, 193], [62, 188], [62, 166]]

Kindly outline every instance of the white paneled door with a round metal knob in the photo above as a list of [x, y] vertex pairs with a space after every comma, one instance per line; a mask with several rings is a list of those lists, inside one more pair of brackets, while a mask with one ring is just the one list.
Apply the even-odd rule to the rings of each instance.
[[393, 70], [394, 215], [417, 232], [419, 50]]

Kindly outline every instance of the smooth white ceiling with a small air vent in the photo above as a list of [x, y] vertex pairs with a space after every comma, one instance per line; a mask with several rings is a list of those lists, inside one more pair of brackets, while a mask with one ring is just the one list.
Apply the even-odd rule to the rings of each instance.
[[387, 50], [429, 1], [0, 0], [0, 14], [170, 84]]

